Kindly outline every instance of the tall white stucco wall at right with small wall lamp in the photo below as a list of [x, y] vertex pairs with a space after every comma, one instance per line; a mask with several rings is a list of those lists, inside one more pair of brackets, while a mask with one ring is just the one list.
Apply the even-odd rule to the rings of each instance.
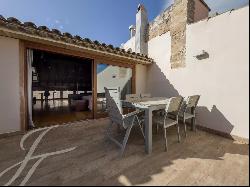
[[[154, 96], [200, 94], [197, 123], [249, 138], [249, 7], [187, 26], [186, 68], [170, 69], [171, 38], [149, 41], [147, 91]], [[208, 59], [194, 56], [202, 50]]]

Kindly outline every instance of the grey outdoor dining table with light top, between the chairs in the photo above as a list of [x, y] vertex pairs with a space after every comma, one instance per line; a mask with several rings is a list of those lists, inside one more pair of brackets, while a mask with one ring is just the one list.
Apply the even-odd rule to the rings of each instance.
[[152, 112], [165, 109], [168, 103], [166, 97], [143, 98], [136, 101], [124, 101], [124, 105], [145, 111], [145, 151], [152, 153]]

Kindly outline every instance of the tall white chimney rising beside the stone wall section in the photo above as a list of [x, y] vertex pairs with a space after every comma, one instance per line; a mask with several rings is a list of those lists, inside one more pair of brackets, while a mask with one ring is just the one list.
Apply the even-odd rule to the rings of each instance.
[[135, 52], [144, 55], [148, 54], [148, 44], [146, 42], [148, 27], [148, 16], [145, 7], [138, 5], [136, 14]]

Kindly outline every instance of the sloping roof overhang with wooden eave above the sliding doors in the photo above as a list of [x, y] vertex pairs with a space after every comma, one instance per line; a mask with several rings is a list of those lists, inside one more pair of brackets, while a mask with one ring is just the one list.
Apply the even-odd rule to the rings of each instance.
[[91, 59], [106, 59], [131, 65], [153, 63], [153, 59], [143, 54], [125, 51], [112, 45], [91, 41], [88, 38], [72, 36], [70, 33], [62, 34], [59, 30], [49, 30], [46, 26], [37, 27], [31, 22], [21, 23], [16, 18], [5, 19], [0, 16], [0, 36], [20, 39], [26, 42], [28, 47], [36, 46], [39, 49], [42, 44], [51, 49], [56, 47], [74, 51], [74, 53], [81, 54], [80, 56]]

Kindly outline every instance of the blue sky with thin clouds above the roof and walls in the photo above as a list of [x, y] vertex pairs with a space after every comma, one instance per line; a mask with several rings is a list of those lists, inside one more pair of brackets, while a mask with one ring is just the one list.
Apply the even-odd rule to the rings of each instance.
[[[205, 0], [212, 12], [225, 12], [249, 4], [249, 0]], [[0, 0], [0, 14], [32, 21], [62, 32], [114, 46], [129, 38], [137, 5], [142, 3], [153, 20], [173, 0]]]

